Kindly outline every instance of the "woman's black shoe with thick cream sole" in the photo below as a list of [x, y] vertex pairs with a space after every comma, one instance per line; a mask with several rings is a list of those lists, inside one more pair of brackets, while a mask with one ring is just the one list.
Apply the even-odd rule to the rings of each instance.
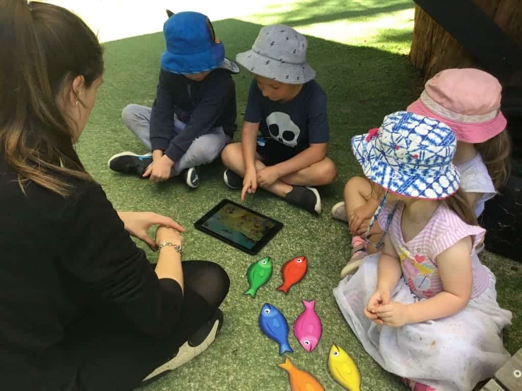
[[144, 382], [148, 384], [150, 381], [156, 380], [165, 373], [168, 373], [192, 360], [194, 357], [199, 356], [216, 339], [216, 335], [221, 330], [222, 325], [223, 312], [218, 308], [213, 316], [180, 347], [174, 357], [151, 372], [144, 379], [142, 385], [144, 385]]

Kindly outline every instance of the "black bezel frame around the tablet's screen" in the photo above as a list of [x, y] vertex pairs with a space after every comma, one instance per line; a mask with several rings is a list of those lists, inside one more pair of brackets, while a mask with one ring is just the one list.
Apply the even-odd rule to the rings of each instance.
[[[259, 217], [262, 217], [262, 218], [265, 218], [267, 219], [268, 221], [272, 222], [272, 223], [275, 223], [275, 226], [273, 228], [271, 228], [268, 233], [263, 236], [263, 238], [261, 240], [259, 240], [256, 245], [254, 247], [252, 247], [252, 249], [247, 249], [246, 247], [243, 247], [241, 245], [239, 245], [238, 243], [226, 238], [226, 237], [223, 237], [219, 234], [216, 234], [214, 231], [211, 231], [210, 229], [206, 228], [203, 226], [203, 223], [205, 223], [212, 215], [214, 215], [215, 213], [217, 213], [223, 206], [224, 204], [232, 204], [236, 207], [239, 207], [247, 212], [250, 212], [252, 214], [255, 214]], [[227, 243], [227, 245], [230, 245], [232, 247], [235, 247], [236, 249], [238, 250], [241, 250], [243, 252], [246, 252], [247, 254], [250, 254], [250, 255], [256, 255], [259, 250], [261, 250], [263, 247], [266, 246], [266, 244], [274, 237], [276, 236], [276, 234], [281, 230], [281, 228], [283, 227], [283, 223], [277, 221], [276, 219], [274, 218], [271, 218], [271, 217], [268, 217], [262, 213], [259, 213], [259, 212], [256, 212], [256, 211], [253, 211], [252, 209], [246, 207], [246, 206], [243, 206], [243, 205], [240, 205], [238, 204], [237, 202], [234, 202], [234, 201], [230, 201], [230, 200], [227, 200], [227, 199], [223, 199], [221, 200], [216, 206], [214, 206], [210, 211], [208, 211], [207, 213], [205, 213], [205, 215], [203, 217], [201, 217], [200, 219], [198, 219], [198, 221], [196, 221], [194, 223], [194, 227], [198, 230], [200, 230], [201, 232], [204, 232], [205, 234], [208, 234], [210, 236], [213, 236], [215, 237], [216, 239], [219, 239], [225, 243]]]

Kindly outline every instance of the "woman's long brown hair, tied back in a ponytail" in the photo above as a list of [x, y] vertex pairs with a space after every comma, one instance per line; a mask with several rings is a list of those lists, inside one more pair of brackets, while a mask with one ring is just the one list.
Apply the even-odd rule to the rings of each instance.
[[22, 191], [34, 182], [67, 196], [73, 189], [67, 177], [91, 177], [57, 99], [77, 76], [89, 88], [102, 75], [103, 50], [65, 8], [25, 0], [0, 0], [0, 8], [0, 153]]

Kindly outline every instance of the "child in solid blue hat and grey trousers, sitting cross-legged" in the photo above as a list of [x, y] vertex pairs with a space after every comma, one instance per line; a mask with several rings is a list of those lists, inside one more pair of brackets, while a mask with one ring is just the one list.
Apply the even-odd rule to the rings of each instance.
[[130, 104], [122, 113], [125, 125], [150, 152], [118, 153], [109, 167], [153, 182], [180, 176], [197, 188], [198, 166], [213, 162], [236, 129], [231, 74], [239, 73], [239, 66], [224, 56], [205, 15], [168, 14], [156, 99], [152, 107]]

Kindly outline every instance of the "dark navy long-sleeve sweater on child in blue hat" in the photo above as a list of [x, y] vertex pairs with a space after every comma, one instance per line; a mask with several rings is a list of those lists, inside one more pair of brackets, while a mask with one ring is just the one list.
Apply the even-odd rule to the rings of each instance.
[[[222, 126], [233, 137], [237, 128], [235, 84], [226, 69], [215, 69], [202, 81], [161, 69], [150, 115], [152, 150], [162, 150], [176, 162], [199, 136]], [[175, 135], [174, 113], [187, 124]]]

